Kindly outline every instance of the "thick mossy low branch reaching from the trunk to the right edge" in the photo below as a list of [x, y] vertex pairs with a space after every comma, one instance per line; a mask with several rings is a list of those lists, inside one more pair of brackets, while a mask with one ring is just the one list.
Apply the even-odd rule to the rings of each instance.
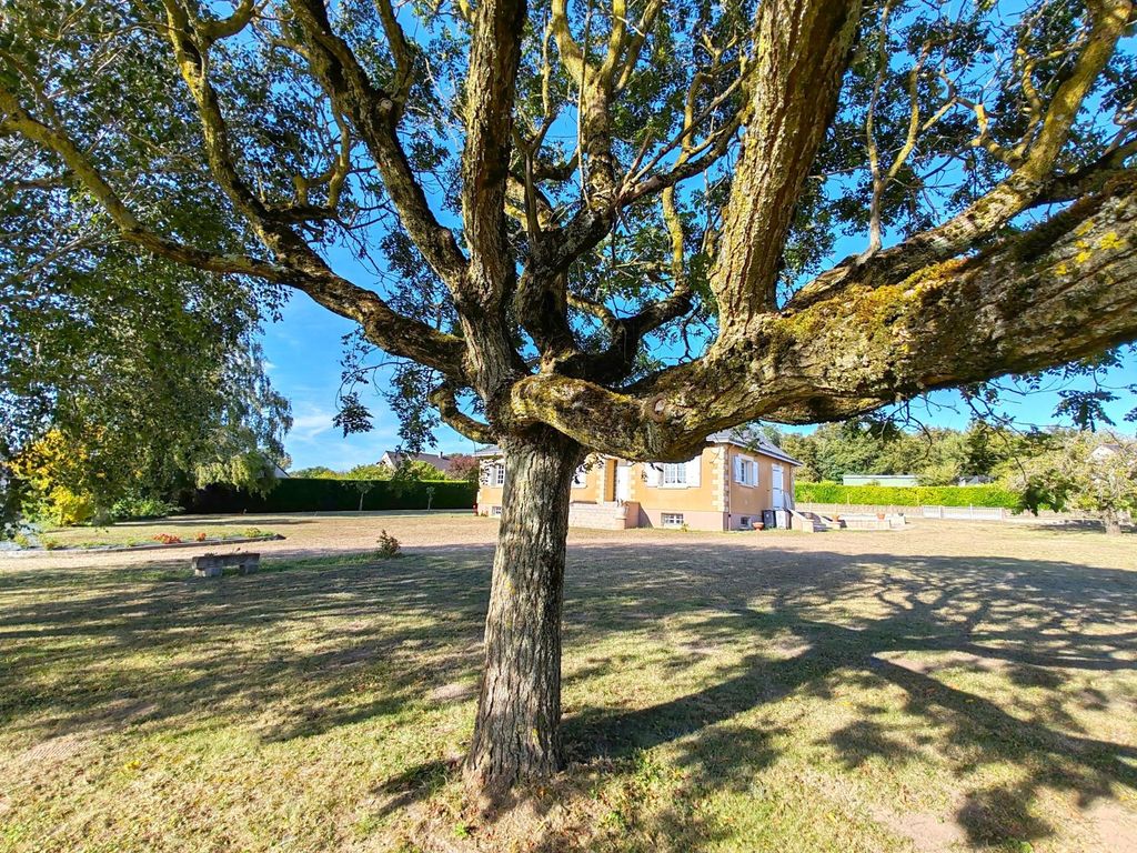
[[690, 456], [747, 420], [840, 420], [924, 391], [1057, 366], [1137, 339], [1137, 173], [987, 252], [765, 313], [626, 392], [516, 384], [518, 419], [629, 458]]

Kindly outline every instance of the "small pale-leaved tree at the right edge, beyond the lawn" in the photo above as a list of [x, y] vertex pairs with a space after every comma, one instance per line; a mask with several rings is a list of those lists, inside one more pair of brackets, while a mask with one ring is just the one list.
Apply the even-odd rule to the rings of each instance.
[[1081, 433], [1028, 462], [1014, 483], [1026, 508], [1082, 510], [1102, 520], [1105, 532], [1121, 532], [1121, 520], [1137, 512], [1137, 441], [1103, 441]]

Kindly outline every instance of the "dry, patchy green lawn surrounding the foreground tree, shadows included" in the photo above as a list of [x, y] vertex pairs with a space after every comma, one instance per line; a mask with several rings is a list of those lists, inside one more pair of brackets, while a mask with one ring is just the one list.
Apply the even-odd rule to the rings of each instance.
[[487, 823], [493, 522], [252, 523], [251, 577], [0, 562], [0, 850], [1137, 850], [1137, 536], [574, 533], [572, 764]]

